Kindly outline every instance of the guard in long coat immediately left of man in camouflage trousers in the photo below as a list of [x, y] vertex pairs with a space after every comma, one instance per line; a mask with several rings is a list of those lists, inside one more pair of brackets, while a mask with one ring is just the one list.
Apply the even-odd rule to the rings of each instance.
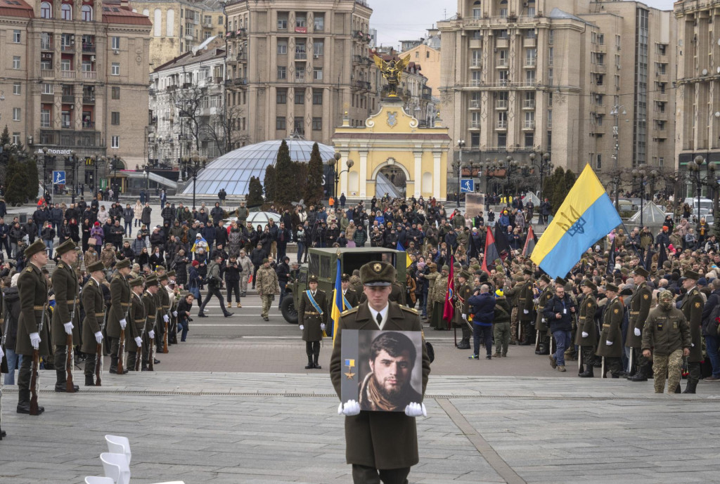
[[650, 273], [644, 268], [638, 267], [635, 268], [632, 275], [637, 288], [630, 301], [630, 318], [625, 346], [631, 348], [637, 370], [633, 374], [632, 365], [629, 365], [628, 380], [647, 381], [647, 378], [652, 375], [652, 363], [642, 355], [642, 328], [650, 313], [650, 304], [652, 303], [652, 290], [647, 286], [647, 276]]

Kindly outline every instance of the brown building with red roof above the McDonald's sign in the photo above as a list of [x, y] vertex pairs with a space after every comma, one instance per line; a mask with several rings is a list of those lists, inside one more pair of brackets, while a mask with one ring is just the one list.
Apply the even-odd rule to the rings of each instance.
[[0, 117], [13, 140], [48, 148], [48, 173], [66, 170], [68, 184], [92, 184], [91, 155], [117, 155], [118, 168], [144, 163], [149, 34], [148, 18], [120, 2], [6, 2]]

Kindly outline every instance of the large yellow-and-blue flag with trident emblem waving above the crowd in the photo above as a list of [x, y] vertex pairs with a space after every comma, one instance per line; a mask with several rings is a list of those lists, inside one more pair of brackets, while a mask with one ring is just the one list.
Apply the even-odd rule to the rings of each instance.
[[621, 222], [598, 176], [585, 165], [530, 258], [551, 278], [565, 277], [588, 247]]

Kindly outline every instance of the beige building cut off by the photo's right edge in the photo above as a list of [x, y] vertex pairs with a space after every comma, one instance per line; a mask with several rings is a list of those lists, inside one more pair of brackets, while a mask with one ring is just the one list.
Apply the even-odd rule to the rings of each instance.
[[[720, 162], [720, 2], [678, 1], [678, 103], [675, 159], [680, 170], [696, 156]], [[715, 31], [715, 32], [714, 32]], [[707, 173], [706, 165], [701, 176]], [[688, 196], [695, 191], [688, 186]]]

